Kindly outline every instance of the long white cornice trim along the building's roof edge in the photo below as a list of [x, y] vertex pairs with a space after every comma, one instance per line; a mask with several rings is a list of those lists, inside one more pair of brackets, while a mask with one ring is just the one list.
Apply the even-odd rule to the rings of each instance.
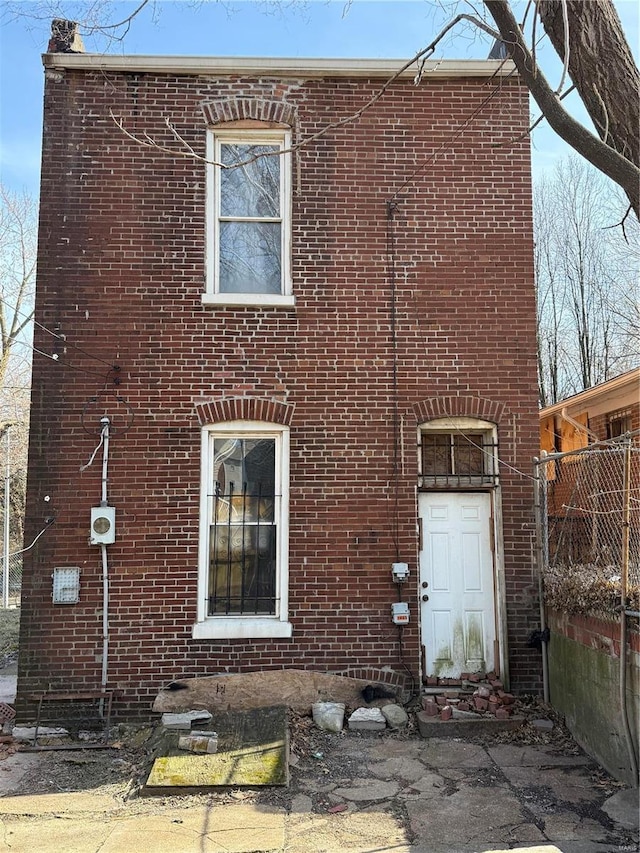
[[[247, 56], [118, 56], [101, 53], [45, 53], [45, 68], [197, 75], [274, 75], [277, 77], [392, 77], [406, 59], [287, 59]], [[415, 77], [414, 63], [402, 77]], [[510, 60], [443, 59], [425, 63], [429, 77], [505, 77], [514, 73]]]

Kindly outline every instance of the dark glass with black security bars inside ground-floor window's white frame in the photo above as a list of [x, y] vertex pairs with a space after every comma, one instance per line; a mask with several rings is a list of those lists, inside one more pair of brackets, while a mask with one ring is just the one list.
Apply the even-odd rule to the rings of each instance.
[[274, 615], [277, 523], [273, 439], [216, 439], [208, 615]]

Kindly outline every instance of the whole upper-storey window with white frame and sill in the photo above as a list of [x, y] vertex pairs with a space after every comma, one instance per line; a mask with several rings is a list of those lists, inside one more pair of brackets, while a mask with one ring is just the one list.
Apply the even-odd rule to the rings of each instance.
[[209, 131], [205, 304], [293, 305], [286, 130]]

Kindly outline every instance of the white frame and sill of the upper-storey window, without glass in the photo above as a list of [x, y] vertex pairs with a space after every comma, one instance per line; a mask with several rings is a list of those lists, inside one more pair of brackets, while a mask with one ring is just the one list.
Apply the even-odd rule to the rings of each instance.
[[[282, 291], [280, 293], [220, 293], [218, 290], [218, 246], [217, 210], [220, 184], [220, 143], [237, 142], [244, 145], [278, 144], [280, 154], [280, 194], [282, 204], [281, 270]], [[260, 130], [242, 128], [210, 128], [207, 131], [206, 167], [206, 290], [202, 295], [203, 305], [246, 305], [256, 307], [293, 307], [295, 298], [291, 282], [291, 132], [288, 130]]]

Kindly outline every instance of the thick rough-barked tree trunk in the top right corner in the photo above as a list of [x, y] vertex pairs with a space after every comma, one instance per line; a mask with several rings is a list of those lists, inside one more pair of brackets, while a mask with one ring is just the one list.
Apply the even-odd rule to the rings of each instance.
[[[540, 0], [540, 20], [565, 59], [561, 0]], [[640, 73], [611, 0], [566, 0], [571, 80], [600, 138], [640, 167]]]

